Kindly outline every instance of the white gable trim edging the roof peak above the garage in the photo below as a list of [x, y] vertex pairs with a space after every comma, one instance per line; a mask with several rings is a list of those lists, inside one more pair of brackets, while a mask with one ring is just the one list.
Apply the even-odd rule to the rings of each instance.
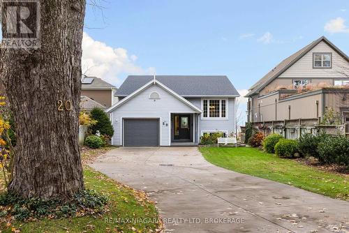
[[158, 80], [151, 80], [149, 82], [147, 82], [146, 84], [144, 84], [142, 87], [140, 87], [139, 89], [133, 91], [133, 93], [131, 93], [130, 95], [128, 95], [126, 98], [123, 98], [122, 100], [120, 100], [119, 102], [117, 102], [116, 104], [112, 105], [112, 107], [108, 108], [107, 110], [105, 110], [106, 112], [110, 113], [113, 110], [115, 110], [117, 107], [123, 105], [124, 103], [126, 103], [128, 100], [130, 100], [131, 98], [135, 97], [138, 95], [138, 93], [144, 91], [144, 89], [147, 89], [148, 87], [150, 87], [151, 85], [158, 85], [159, 87], [165, 89], [166, 91], [168, 91], [168, 93], [172, 94], [172, 96], [174, 96], [175, 98], [177, 98], [178, 100], [180, 100], [181, 102], [183, 102], [184, 104], [188, 105], [189, 107], [191, 107], [193, 110], [195, 110], [195, 112], [202, 112], [200, 110], [200, 108], [196, 107], [195, 105], [193, 105], [193, 103], [189, 102], [188, 100], [186, 100], [185, 98], [179, 96], [179, 94], [177, 94], [176, 92], [174, 92], [173, 90], [171, 90], [170, 88], [166, 87], [164, 84], [162, 84], [161, 82], [159, 82]]

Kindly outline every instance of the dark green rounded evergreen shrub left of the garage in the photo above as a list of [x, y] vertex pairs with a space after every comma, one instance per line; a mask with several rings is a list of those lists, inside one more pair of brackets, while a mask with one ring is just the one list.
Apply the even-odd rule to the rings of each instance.
[[89, 127], [92, 131], [92, 134], [95, 134], [96, 131], [99, 130], [99, 133], [101, 133], [101, 135], [108, 135], [110, 137], [114, 135], [114, 129], [112, 128], [112, 123], [110, 122], [107, 113], [99, 108], [94, 108], [90, 114], [91, 118], [97, 121], [96, 124]]

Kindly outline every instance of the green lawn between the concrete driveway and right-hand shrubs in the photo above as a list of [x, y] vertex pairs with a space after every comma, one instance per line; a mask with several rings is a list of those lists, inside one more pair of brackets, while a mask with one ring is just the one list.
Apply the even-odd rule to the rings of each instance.
[[207, 161], [219, 167], [349, 201], [349, 176], [318, 170], [251, 147], [202, 147], [200, 151]]

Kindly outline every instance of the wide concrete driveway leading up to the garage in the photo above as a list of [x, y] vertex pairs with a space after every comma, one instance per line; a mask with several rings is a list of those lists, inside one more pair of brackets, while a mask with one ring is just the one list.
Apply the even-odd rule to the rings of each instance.
[[121, 147], [91, 166], [149, 193], [167, 232], [349, 232], [349, 202], [216, 167], [196, 147]]

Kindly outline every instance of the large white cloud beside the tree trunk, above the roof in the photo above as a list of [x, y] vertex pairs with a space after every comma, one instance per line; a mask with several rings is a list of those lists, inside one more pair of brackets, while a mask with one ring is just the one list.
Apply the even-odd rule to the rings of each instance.
[[155, 68], [141, 68], [135, 64], [138, 59], [129, 55], [122, 47], [113, 48], [94, 40], [84, 32], [82, 38], [82, 72], [85, 75], [101, 77], [111, 84], [120, 84], [119, 75], [152, 75]]

